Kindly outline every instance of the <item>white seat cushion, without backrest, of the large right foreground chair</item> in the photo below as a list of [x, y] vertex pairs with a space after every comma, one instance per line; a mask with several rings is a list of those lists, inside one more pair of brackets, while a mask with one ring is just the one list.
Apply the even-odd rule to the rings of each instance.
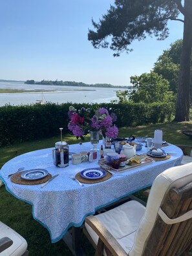
[[[144, 212], [145, 206], [132, 200], [95, 217], [109, 230], [122, 248], [129, 253], [133, 247], [134, 235]], [[98, 235], [86, 222], [85, 227], [92, 240], [97, 244]]]

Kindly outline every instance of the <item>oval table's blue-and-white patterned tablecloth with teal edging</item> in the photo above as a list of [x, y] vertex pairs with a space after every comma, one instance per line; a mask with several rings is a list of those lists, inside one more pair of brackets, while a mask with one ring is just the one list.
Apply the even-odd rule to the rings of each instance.
[[[98, 148], [101, 144], [102, 141], [98, 144]], [[69, 145], [69, 152], [80, 153], [91, 148], [90, 142], [73, 144]], [[83, 169], [99, 167], [98, 161], [73, 165], [69, 160], [69, 166], [60, 168], [53, 164], [52, 149], [41, 149], [16, 156], [6, 162], [0, 171], [0, 178], [5, 183], [7, 191], [14, 197], [32, 204], [34, 219], [48, 229], [52, 242], [62, 239], [70, 227], [80, 227], [87, 215], [92, 215], [96, 210], [112, 202], [151, 186], [162, 171], [180, 165], [183, 155], [180, 148], [169, 144], [164, 147], [165, 152], [170, 153], [171, 156], [167, 160], [138, 165], [122, 173], [115, 173], [103, 182], [80, 186], [70, 176], [76, 175]], [[142, 150], [137, 151], [137, 154], [146, 152], [147, 148], [143, 145]], [[41, 184], [16, 184], [8, 175], [15, 173], [20, 167], [25, 167], [25, 170], [46, 169], [52, 176], [58, 176], [45, 187], [41, 187]]]

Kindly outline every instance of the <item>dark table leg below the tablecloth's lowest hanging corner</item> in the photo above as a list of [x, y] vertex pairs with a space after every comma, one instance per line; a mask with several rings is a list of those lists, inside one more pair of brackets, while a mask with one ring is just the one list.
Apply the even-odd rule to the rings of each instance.
[[85, 256], [85, 252], [81, 247], [80, 239], [81, 239], [81, 227], [76, 228], [72, 226], [71, 233], [67, 231], [67, 233], [65, 233], [65, 235], [63, 236], [64, 242], [67, 244], [70, 251], [72, 252], [72, 255], [74, 256]]

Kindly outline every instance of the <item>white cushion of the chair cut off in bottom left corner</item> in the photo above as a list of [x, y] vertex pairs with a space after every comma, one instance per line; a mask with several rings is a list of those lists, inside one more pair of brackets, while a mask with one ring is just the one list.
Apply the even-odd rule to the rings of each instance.
[[27, 241], [14, 231], [14, 229], [9, 228], [0, 221], [0, 239], [3, 237], [11, 239], [13, 244], [0, 253], [2, 256], [21, 256], [27, 250]]

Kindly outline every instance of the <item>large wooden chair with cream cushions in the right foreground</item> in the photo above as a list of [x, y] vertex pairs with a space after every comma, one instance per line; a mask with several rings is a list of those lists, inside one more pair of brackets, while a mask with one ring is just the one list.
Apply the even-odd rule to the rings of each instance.
[[171, 167], [153, 182], [146, 208], [131, 200], [85, 218], [95, 255], [191, 255], [192, 163]]

